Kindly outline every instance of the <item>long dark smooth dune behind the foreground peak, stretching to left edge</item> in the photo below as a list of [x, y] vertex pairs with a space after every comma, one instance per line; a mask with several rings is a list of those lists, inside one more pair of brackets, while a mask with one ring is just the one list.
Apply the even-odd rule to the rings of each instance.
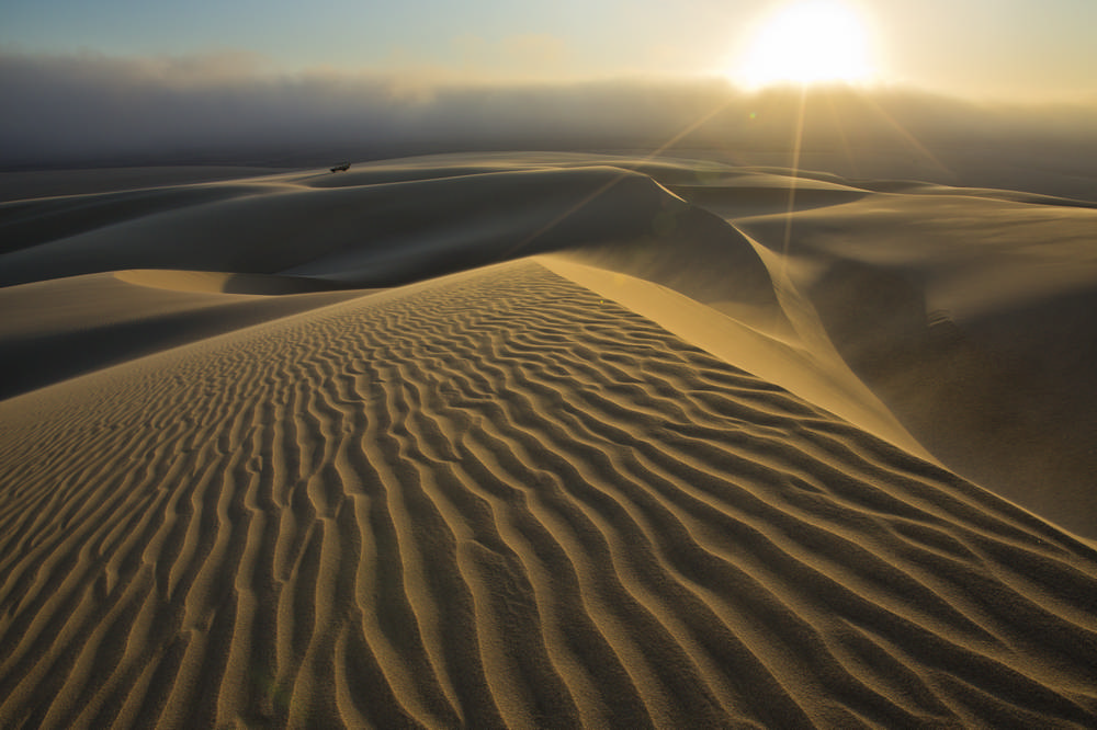
[[388, 286], [632, 238], [664, 209], [686, 207], [652, 178], [598, 164], [330, 189], [310, 186], [314, 178], [179, 189], [161, 194], [178, 206], [160, 209], [155, 196], [139, 215], [138, 193], [4, 204], [0, 225], [30, 238], [0, 255], [0, 286], [126, 269]]

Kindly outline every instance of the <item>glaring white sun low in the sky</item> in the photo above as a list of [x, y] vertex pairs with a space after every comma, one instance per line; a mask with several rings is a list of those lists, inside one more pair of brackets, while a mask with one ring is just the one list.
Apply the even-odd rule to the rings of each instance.
[[730, 77], [758, 89], [774, 83], [847, 83], [873, 75], [864, 23], [837, 0], [803, 0], [787, 5], [755, 35]]

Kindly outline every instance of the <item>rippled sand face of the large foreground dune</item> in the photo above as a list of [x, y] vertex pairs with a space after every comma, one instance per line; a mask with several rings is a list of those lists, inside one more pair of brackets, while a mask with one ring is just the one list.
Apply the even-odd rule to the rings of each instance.
[[535, 263], [13, 402], [0, 727], [1097, 723], [1092, 551]]

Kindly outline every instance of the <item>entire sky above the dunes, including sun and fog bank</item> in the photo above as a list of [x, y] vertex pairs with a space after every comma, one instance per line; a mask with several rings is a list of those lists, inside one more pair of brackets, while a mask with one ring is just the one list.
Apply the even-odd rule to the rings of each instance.
[[781, 150], [803, 110], [805, 150], [1089, 166], [1094, 28], [1097, 0], [0, 0], [0, 169]]

